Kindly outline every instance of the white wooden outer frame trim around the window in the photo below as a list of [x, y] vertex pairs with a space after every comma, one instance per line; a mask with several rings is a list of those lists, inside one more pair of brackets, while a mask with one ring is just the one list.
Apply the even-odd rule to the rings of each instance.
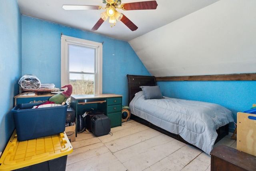
[[96, 48], [96, 75], [94, 94], [102, 94], [102, 44], [70, 36], [61, 36], [61, 87], [69, 84], [68, 46], [69, 44]]

